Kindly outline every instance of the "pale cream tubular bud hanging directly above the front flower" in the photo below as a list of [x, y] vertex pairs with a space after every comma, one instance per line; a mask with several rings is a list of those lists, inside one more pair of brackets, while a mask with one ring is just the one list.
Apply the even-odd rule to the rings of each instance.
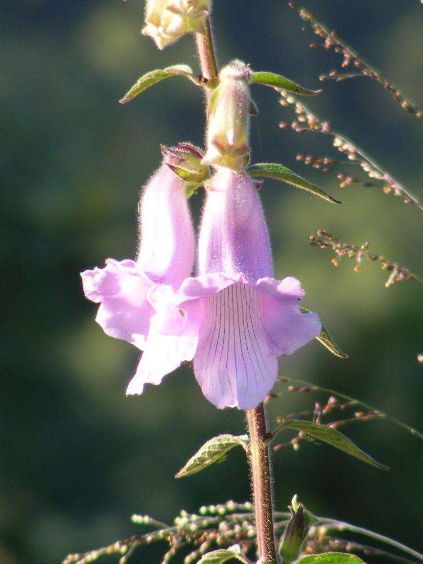
[[250, 70], [241, 61], [232, 61], [219, 73], [219, 86], [209, 103], [207, 152], [203, 162], [225, 166], [236, 172], [248, 162], [248, 129], [251, 108]]

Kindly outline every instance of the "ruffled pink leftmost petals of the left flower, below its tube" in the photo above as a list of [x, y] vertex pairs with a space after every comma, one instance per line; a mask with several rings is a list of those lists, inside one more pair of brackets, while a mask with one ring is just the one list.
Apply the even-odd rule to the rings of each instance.
[[86, 270], [81, 277], [85, 296], [100, 302], [96, 321], [103, 331], [143, 350], [155, 311], [147, 300], [152, 283], [135, 262], [109, 258], [104, 268]]

